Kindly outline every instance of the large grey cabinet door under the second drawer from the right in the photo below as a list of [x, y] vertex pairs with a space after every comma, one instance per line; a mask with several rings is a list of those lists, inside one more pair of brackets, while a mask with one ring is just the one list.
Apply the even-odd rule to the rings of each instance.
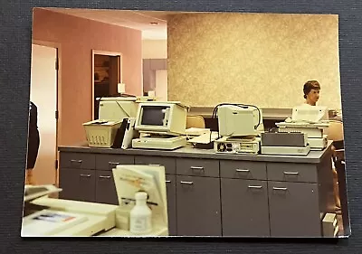
[[221, 179], [223, 236], [270, 236], [266, 181]]

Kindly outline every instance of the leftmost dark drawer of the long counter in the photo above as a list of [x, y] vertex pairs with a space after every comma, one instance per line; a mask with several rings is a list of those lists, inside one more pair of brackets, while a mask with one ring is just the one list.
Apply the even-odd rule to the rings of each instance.
[[60, 166], [67, 168], [94, 169], [96, 156], [87, 153], [64, 153], [60, 154]]

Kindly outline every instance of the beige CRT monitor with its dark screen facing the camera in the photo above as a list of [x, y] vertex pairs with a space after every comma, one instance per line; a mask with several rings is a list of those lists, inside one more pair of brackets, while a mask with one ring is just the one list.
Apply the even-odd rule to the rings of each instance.
[[139, 103], [135, 129], [149, 134], [185, 135], [187, 110], [178, 101]]

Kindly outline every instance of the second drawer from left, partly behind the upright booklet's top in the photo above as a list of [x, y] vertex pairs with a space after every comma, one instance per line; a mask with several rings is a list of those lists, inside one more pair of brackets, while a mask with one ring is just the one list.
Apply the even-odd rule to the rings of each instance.
[[135, 163], [132, 155], [97, 155], [96, 169], [112, 170], [117, 165], [133, 165]]

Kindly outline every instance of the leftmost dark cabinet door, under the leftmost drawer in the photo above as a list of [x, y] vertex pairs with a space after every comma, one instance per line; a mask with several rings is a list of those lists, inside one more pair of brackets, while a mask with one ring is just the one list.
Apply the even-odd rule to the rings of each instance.
[[62, 192], [59, 198], [64, 200], [79, 200], [79, 169], [61, 168], [59, 171], [59, 187]]

